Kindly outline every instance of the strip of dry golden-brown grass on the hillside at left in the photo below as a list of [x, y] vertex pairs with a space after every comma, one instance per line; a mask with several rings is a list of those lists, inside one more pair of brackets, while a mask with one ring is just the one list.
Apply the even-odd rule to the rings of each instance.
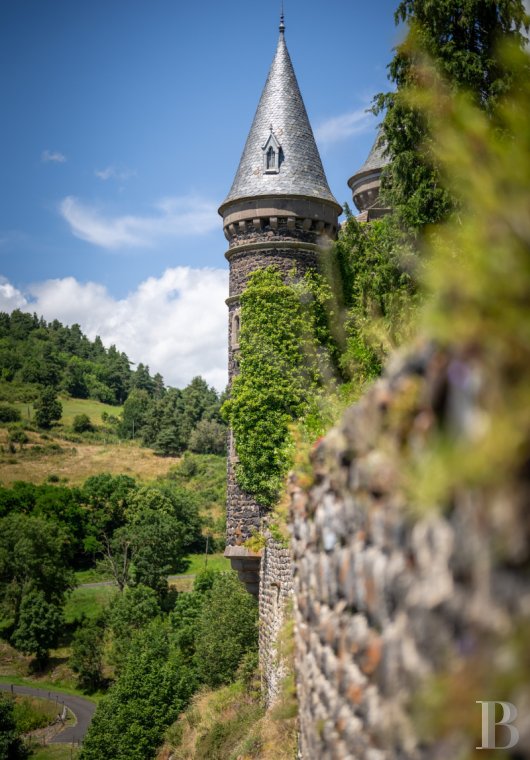
[[[91, 475], [110, 472], [130, 475], [139, 480], [155, 480], [167, 475], [180, 461], [177, 457], [157, 457], [133, 441], [118, 444], [76, 443], [54, 436], [53, 441], [38, 433], [28, 433], [29, 444], [22, 451], [0, 455], [0, 483], [10, 485], [16, 480], [44, 483], [50, 475], [80, 485]], [[7, 429], [0, 428], [0, 445], [7, 445]], [[35, 445], [42, 447], [34, 449]], [[59, 448], [57, 448], [59, 447]]]

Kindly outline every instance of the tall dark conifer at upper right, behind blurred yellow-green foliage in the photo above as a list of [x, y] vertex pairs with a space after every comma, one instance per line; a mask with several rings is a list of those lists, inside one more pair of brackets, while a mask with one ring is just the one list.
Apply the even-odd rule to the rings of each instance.
[[454, 205], [432, 155], [436, 136], [429, 114], [408, 99], [409, 89], [421, 79], [425, 56], [454, 91], [468, 91], [492, 115], [513, 81], [499, 43], [509, 39], [522, 47], [529, 17], [522, 0], [402, 0], [395, 19], [408, 23], [411, 31], [389, 65], [396, 92], [374, 100], [376, 113], [386, 109], [382, 129], [390, 165], [383, 194], [400, 223], [418, 230], [445, 219]]

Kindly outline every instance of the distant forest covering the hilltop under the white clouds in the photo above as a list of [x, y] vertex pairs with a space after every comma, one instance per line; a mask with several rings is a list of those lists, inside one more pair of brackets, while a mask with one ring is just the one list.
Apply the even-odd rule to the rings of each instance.
[[0, 401], [38, 404], [53, 389], [63, 397], [123, 407], [116, 416], [104, 414], [103, 423], [160, 454], [223, 452], [223, 399], [214, 388], [201, 377], [182, 390], [166, 387], [160, 373], [131, 365], [127, 354], [114, 345], [105, 348], [99, 336], [89, 340], [78, 324], [46, 322], [19, 309], [0, 312]]

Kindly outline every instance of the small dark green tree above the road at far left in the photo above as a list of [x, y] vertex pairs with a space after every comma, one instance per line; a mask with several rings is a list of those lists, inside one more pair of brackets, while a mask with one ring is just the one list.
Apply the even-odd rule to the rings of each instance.
[[49, 649], [57, 643], [62, 623], [60, 599], [47, 601], [43, 591], [29, 591], [22, 597], [11, 641], [24, 654], [34, 654], [40, 668], [48, 659]]

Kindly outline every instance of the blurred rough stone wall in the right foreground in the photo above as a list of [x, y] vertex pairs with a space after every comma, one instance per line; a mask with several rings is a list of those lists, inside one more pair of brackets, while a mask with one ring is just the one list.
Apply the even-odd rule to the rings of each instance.
[[[473, 427], [477, 372], [432, 347], [394, 360], [316, 448], [313, 485], [293, 488], [304, 760], [475, 757], [480, 699], [517, 705], [506, 757], [530, 757], [528, 642], [517, 649], [530, 614], [528, 473], [502, 492], [456, 491], [439, 511], [413, 510], [402, 477], [438, 431]], [[441, 699], [423, 730], [422, 689]]]

